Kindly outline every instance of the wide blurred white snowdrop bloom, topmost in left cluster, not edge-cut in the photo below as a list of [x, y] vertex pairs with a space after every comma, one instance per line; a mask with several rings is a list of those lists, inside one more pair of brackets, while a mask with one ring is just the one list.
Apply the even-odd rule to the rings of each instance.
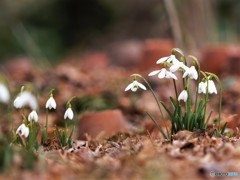
[[32, 110], [37, 109], [37, 99], [28, 91], [21, 92], [13, 102], [15, 108], [29, 106]]

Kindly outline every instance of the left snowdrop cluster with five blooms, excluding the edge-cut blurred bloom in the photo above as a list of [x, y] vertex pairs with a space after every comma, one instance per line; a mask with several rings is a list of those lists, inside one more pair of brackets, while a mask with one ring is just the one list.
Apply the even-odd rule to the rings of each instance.
[[[17, 128], [13, 143], [19, 143], [27, 150], [37, 150], [40, 145], [46, 145], [53, 139], [54, 134], [56, 134], [57, 142], [61, 147], [71, 147], [72, 144], [72, 135], [75, 129], [73, 126], [70, 135], [68, 136], [68, 122], [67, 119], [72, 120], [74, 117], [72, 108], [71, 108], [71, 98], [67, 102], [67, 109], [64, 114], [65, 119], [65, 129], [59, 130], [58, 128], [49, 135], [48, 131], [48, 115], [49, 111], [55, 110], [57, 108], [57, 103], [53, 97], [53, 91], [49, 92], [48, 100], [46, 101], [46, 119], [45, 126], [42, 126], [38, 123], [38, 102], [36, 97], [28, 90], [24, 90], [24, 87], [21, 88], [20, 93], [15, 98], [13, 105], [16, 109], [21, 111], [22, 123]], [[26, 115], [27, 108], [31, 109], [31, 112]]]

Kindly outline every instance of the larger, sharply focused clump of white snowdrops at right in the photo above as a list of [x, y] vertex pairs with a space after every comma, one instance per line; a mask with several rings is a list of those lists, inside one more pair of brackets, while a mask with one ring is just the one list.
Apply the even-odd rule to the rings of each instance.
[[[222, 127], [220, 126], [222, 85], [218, 76], [211, 72], [203, 72], [196, 57], [186, 57], [182, 50], [178, 48], [173, 48], [170, 56], [160, 58], [156, 64], [159, 64], [161, 69], [150, 72], [148, 76], [157, 76], [159, 79], [167, 78], [173, 81], [175, 95], [174, 97], [169, 97], [172, 110], [169, 109], [164, 102], [158, 100], [151, 85], [140, 74], [131, 75], [133, 81], [126, 87], [125, 91], [131, 90], [136, 92], [138, 89], [149, 89], [151, 91], [161, 114], [161, 119], [164, 122], [165, 131], [163, 127], [159, 126], [150, 113], [147, 112], [147, 115], [157, 126], [162, 136], [166, 140], [171, 140], [172, 135], [180, 130], [206, 130], [212, 115], [212, 111], [207, 114], [209, 95], [218, 93], [219, 114], [216, 121], [213, 121], [213, 127], [216, 136], [223, 134], [227, 124], [225, 123]], [[138, 79], [143, 80], [144, 83], [138, 82]], [[181, 89], [177, 88], [177, 81], [181, 81]], [[215, 83], [218, 84], [219, 92], [217, 91]], [[194, 89], [191, 89], [193, 87], [191, 84], [196, 84]], [[194, 96], [190, 93], [192, 91], [194, 91]], [[171, 129], [166, 125], [162, 108], [169, 116]]]

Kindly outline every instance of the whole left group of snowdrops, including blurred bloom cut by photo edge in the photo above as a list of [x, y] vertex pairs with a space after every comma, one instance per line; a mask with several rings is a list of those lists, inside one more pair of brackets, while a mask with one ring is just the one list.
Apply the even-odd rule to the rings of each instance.
[[[65, 128], [55, 128], [52, 134], [48, 130], [48, 115], [50, 111], [55, 111], [57, 103], [54, 99], [54, 90], [49, 92], [48, 99], [45, 104], [45, 124], [39, 123], [41, 117], [38, 112], [41, 111], [38, 104], [38, 99], [32, 91], [21, 88], [11, 103], [11, 92], [9, 91], [7, 79], [0, 75], [0, 112], [2, 114], [0, 123], [3, 125], [6, 122], [10, 124], [11, 133], [3, 132], [0, 127], [0, 172], [8, 169], [14, 161], [14, 156], [17, 154], [22, 159], [23, 168], [33, 168], [34, 164], [43, 151], [41, 146], [49, 145], [53, 140], [58, 143], [61, 148], [70, 148], [72, 146], [72, 136], [75, 130], [75, 123], [69, 120], [74, 120], [74, 113], [71, 102], [75, 98], [72, 97], [66, 103], [66, 111], [63, 115]], [[15, 127], [12, 121], [12, 111], [18, 111], [21, 123]], [[52, 112], [54, 113], [54, 112]], [[3, 123], [4, 122], [4, 123]], [[73, 124], [69, 127], [69, 124]], [[70, 130], [70, 132], [69, 132]], [[55, 137], [54, 137], [55, 135]]]

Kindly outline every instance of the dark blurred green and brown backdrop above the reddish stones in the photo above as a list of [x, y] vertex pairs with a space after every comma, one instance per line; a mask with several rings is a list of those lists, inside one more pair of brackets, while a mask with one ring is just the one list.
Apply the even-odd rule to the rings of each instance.
[[0, 61], [54, 63], [89, 49], [116, 57], [146, 39], [199, 53], [239, 42], [239, 8], [238, 0], [1, 0]]

